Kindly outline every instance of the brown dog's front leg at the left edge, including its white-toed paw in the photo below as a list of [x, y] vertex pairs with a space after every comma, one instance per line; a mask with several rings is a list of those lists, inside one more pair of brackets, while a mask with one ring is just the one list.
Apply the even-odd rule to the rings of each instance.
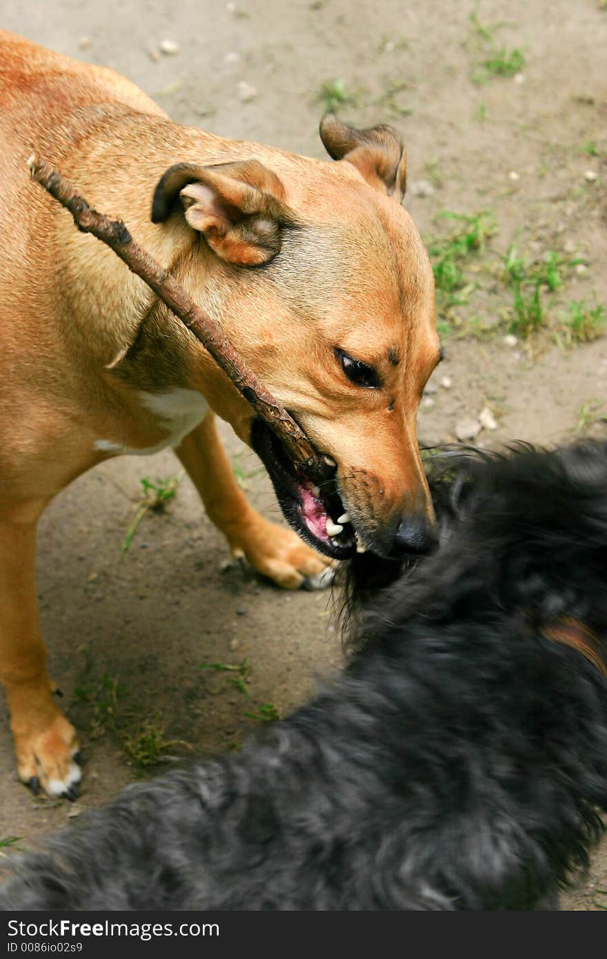
[[72, 798], [81, 770], [76, 730], [58, 709], [46, 672], [35, 599], [35, 527], [41, 507], [0, 518], [0, 678], [11, 711], [19, 778]]

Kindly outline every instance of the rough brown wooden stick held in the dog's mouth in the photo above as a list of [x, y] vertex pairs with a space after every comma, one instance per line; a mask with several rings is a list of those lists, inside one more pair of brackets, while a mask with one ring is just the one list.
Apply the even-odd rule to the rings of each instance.
[[163, 269], [143, 247], [135, 243], [125, 223], [92, 209], [71, 183], [37, 153], [32, 153], [28, 159], [28, 167], [34, 179], [70, 211], [79, 230], [92, 233], [110, 246], [128, 269], [145, 280], [163, 303], [192, 331], [260, 419], [278, 437], [294, 466], [315, 482], [333, 476], [335, 463], [330, 457], [316, 453], [301, 427], [241, 360], [221, 325], [200, 310], [168, 269]]

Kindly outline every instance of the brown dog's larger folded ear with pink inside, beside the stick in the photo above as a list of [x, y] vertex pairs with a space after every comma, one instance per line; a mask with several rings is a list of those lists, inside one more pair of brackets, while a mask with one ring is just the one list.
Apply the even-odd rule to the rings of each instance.
[[177, 163], [160, 178], [152, 222], [169, 219], [177, 199], [190, 226], [229, 263], [255, 267], [281, 247], [281, 227], [296, 218], [284, 202], [285, 188], [258, 160], [198, 167]]

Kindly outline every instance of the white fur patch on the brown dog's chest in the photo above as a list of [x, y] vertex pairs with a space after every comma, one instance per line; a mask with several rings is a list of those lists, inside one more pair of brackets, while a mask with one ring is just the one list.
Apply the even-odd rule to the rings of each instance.
[[167, 437], [156, 446], [145, 449], [129, 447], [111, 439], [97, 439], [94, 443], [96, 450], [112, 454], [147, 456], [164, 450], [167, 446], [178, 446], [183, 437], [198, 426], [209, 410], [208, 403], [195, 389], [183, 389], [177, 386], [166, 393], [148, 393], [140, 390], [138, 395], [142, 406], [152, 411], [158, 426], [167, 431]]

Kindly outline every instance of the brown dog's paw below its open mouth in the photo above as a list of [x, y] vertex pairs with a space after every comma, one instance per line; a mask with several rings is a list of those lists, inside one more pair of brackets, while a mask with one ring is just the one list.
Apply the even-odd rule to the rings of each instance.
[[268, 576], [285, 590], [324, 589], [333, 580], [334, 560], [312, 550], [292, 529], [269, 523], [262, 517], [238, 545], [235, 556], [244, 555], [257, 573]]

